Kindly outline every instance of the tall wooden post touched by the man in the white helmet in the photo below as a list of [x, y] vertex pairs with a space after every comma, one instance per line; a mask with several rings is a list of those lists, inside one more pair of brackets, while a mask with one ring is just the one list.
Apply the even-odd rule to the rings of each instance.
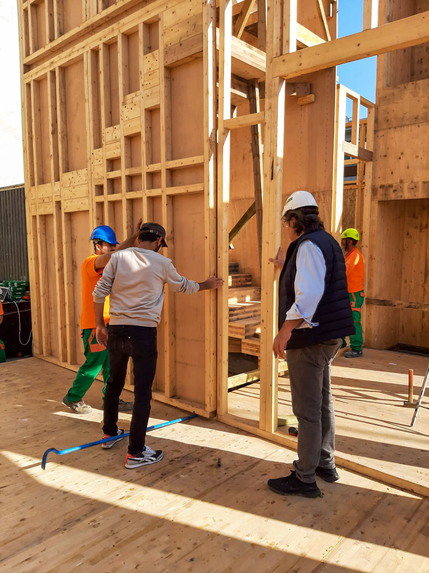
[[[286, 5], [285, 3], [285, 10]], [[283, 14], [284, 22], [295, 14], [296, 1], [290, 0], [290, 14]], [[274, 257], [280, 245], [280, 216], [283, 187], [284, 106], [286, 82], [272, 75], [272, 58], [282, 55], [282, 1], [270, 0], [267, 7], [267, 73], [265, 100], [264, 140], [264, 195], [262, 232], [262, 281], [261, 281], [261, 345], [260, 345], [260, 404], [259, 427], [273, 432], [277, 429], [277, 359], [272, 354], [272, 341], [277, 332], [277, 283], [278, 272], [268, 258]], [[295, 17], [295, 16], [294, 16]], [[295, 18], [296, 22], [296, 18]], [[290, 25], [288, 30], [293, 29]], [[296, 36], [291, 33], [288, 46], [293, 46]]]

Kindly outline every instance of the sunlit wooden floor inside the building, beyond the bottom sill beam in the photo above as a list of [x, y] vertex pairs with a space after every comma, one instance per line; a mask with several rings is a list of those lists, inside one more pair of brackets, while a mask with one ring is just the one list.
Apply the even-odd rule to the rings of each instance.
[[[408, 369], [414, 368], [418, 399], [429, 358], [364, 349], [354, 360], [339, 356], [332, 367], [337, 462], [395, 486], [429, 496], [429, 411], [414, 427], [408, 399]], [[423, 404], [428, 405], [427, 398]], [[256, 422], [259, 383], [228, 394], [229, 413]], [[288, 378], [279, 378], [279, 414], [292, 413]], [[279, 427], [279, 430], [282, 430]], [[283, 427], [287, 432], [287, 428]], [[349, 462], [349, 463], [348, 463]]]

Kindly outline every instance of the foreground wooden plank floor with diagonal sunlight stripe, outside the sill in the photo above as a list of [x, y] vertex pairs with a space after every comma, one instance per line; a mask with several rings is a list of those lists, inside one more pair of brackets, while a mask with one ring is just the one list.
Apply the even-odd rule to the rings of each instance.
[[[124, 468], [124, 440], [111, 450], [52, 454], [42, 471], [45, 449], [101, 434], [101, 384], [88, 392], [92, 414], [77, 417], [61, 403], [72, 378], [34, 358], [0, 365], [3, 570], [429, 570], [426, 497], [345, 470], [336, 484], [319, 484], [322, 498], [277, 496], [266, 480], [288, 474], [295, 453], [214, 420], [151, 433], [148, 444], [165, 457], [147, 468]], [[152, 414], [157, 422], [180, 411], [154, 403]], [[129, 422], [122, 414], [122, 426]], [[389, 442], [384, 426], [377, 436]]]

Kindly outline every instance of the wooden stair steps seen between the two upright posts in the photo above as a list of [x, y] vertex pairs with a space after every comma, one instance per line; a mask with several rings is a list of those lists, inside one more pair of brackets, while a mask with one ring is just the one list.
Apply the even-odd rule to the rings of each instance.
[[260, 288], [251, 274], [240, 274], [237, 262], [228, 269], [228, 350], [260, 356]]

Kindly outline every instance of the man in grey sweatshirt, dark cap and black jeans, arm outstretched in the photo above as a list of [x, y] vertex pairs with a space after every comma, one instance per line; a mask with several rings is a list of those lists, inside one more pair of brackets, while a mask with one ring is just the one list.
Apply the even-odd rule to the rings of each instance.
[[[127, 373], [128, 359], [134, 367], [134, 409], [132, 410], [130, 441], [126, 468], [154, 464], [163, 457], [145, 445], [150, 415], [152, 383], [157, 367], [157, 326], [161, 320], [164, 285], [170, 291], [193, 295], [198, 291], [220, 288], [221, 278], [194, 282], [180, 276], [169, 258], [159, 254], [166, 247], [165, 229], [158, 223], [142, 225], [138, 246], [112, 254], [93, 291], [97, 342], [109, 351], [110, 376], [104, 397], [103, 438], [118, 435], [118, 440], [103, 444], [103, 448], [123, 439], [118, 430], [118, 404]], [[109, 331], [103, 321], [104, 299], [110, 295]]]

